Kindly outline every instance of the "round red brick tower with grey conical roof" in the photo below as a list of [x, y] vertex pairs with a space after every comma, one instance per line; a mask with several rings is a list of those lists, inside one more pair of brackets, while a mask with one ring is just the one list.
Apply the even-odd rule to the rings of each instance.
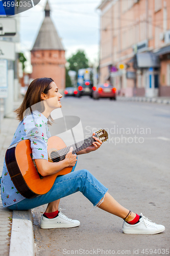
[[45, 17], [33, 49], [31, 50], [31, 64], [33, 79], [51, 77], [60, 90], [65, 88], [65, 51], [56, 28], [50, 17], [48, 1], [45, 6]]

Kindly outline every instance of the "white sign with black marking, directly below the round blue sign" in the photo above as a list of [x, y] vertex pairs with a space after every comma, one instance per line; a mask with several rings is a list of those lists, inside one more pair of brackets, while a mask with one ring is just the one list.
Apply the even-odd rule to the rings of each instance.
[[0, 18], [0, 36], [16, 35], [16, 20], [13, 18]]

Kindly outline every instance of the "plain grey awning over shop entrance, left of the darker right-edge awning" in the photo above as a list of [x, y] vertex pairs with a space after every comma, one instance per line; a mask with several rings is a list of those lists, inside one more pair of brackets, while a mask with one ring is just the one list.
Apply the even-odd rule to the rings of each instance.
[[[136, 63], [135, 63], [136, 62]], [[136, 54], [136, 68], [159, 68], [159, 57], [151, 52], [137, 53]]]

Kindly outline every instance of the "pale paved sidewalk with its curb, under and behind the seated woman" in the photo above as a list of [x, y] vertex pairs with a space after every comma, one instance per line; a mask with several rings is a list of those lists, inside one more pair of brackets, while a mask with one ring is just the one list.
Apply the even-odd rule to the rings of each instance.
[[[20, 102], [15, 102], [15, 109]], [[4, 157], [13, 134], [18, 126], [15, 114], [11, 118], [1, 119], [0, 133], [0, 177], [2, 175]], [[31, 241], [31, 243], [30, 243]], [[32, 213], [30, 211], [12, 211], [3, 207], [0, 198], [0, 251], [2, 256], [34, 255]]]

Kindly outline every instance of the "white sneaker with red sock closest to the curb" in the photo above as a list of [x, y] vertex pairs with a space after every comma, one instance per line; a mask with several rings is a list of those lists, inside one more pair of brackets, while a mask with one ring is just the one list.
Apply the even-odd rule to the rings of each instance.
[[47, 219], [43, 215], [41, 217], [41, 228], [63, 228], [63, 227], [77, 227], [80, 225], [80, 221], [68, 219], [62, 212], [56, 218]]

